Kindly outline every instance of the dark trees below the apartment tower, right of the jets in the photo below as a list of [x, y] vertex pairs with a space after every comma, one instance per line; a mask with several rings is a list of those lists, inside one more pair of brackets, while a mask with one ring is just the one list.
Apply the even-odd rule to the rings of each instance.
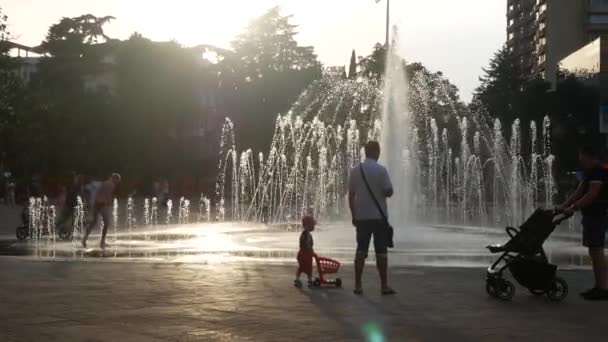
[[[603, 146], [598, 132], [599, 94], [593, 86], [575, 77], [557, 82], [554, 90], [542, 79], [526, 80], [519, 71], [518, 60], [507, 48], [498, 51], [481, 78], [471, 110], [498, 118], [503, 123], [503, 134], [510, 136], [510, 124], [521, 120], [527, 131], [531, 121], [541, 132], [543, 118], [552, 121], [553, 153], [561, 174], [578, 167], [577, 143], [587, 141]], [[522, 135], [522, 146], [529, 148], [530, 137]]]

